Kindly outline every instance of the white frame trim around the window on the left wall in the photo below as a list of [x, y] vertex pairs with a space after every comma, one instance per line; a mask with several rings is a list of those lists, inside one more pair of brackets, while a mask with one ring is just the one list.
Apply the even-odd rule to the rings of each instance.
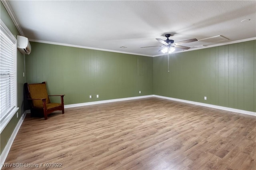
[[18, 111], [19, 107], [18, 107], [18, 89], [17, 89], [17, 39], [14, 37], [14, 35], [12, 34], [12, 32], [10, 32], [10, 30], [8, 29], [8, 27], [4, 24], [4, 22], [0, 19], [0, 30], [1, 30], [1, 34], [5, 34], [6, 36], [8, 36], [8, 38], [10, 38], [12, 40], [12, 42], [14, 42], [14, 71], [15, 71], [15, 78], [14, 78], [14, 90], [15, 90], [15, 106], [13, 109], [11, 109], [11, 111], [3, 118], [3, 120], [0, 119], [0, 133], [4, 130], [4, 128], [6, 127], [6, 125], [8, 125], [8, 123], [10, 122], [10, 120], [12, 119], [12, 117], [15, 115], [15, 113]]

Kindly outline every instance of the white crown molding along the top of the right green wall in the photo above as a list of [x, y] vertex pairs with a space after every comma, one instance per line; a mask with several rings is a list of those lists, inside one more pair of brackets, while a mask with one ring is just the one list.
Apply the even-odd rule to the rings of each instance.
[[[251, 41], [251, 40], [256, 40], [256, 37], [247, 38], [247, 39], [244, 39], [244, 40], [232, 41], [232, 42], [218, 43], [218, 44], [209, 45], [209, 46], [206, 46], [206, 47], [192, 48], [192, 49], [186, 49], [186, 50], [182, 50], [182, 51], [174, 51], [171, 54], [182, 53], [182, 52], [186, 52], [186, 51], [194, 51], [194, 50], [210, 48], [210, 47], [217, 47], [217, 46], [228, 45], [228, 44], [232, 44], [232, 43], [248, 42], [248, 41]], [[159, 57], [159, 56], [163, 56], [163, 55], [167, 55], [167, 54], [153, 55], [152, 57]]]

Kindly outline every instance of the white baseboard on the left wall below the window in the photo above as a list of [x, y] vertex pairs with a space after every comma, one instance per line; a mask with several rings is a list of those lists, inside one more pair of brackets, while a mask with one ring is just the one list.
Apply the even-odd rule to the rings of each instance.
[[12, 135], [10, 136], [10, 139], [8, 140], [6, 146], [4, 147], [4, 150], [3, 150], [2, 154], [0, 155], [0, 163], [1, 163], [0, 169], [4, 165], [4, 162], [5, 162], [5, 160], [6, 160], [7, 156], [8, 156], [8, 153], [9, 153], [9, 151], [11, 149], [12, 143], [13, 143], [13, 141], [14, 141], [14, 139], [15, 139], [15, 137], [16, 137], [19, 129], [20, 129], [20, 126], [21, 126], [22, 122], [24, 121], [24, 118], [26, 117], [26, 114], [27, 114], [27, 112], [24, 111], [24, 113], [20, 117], [20, 120], [18, 121], [16, 127], [13, 130]]

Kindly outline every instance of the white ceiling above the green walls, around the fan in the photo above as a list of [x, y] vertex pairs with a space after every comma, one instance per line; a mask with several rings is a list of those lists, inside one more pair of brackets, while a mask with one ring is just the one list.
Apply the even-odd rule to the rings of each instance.
[[[168, 33], [174, 34], [170, 37], [174, 42], [198, 39], [182, 44], [191, 49], [256, 37], [255, 0], [9, 0], [7, 4], [23, 36], [35, 42], [157, 56], [161, 47], [140, 47], [162, 45], [156, 38], [166, 40]], [[241, 22], [245, 19], [250, 21]]]

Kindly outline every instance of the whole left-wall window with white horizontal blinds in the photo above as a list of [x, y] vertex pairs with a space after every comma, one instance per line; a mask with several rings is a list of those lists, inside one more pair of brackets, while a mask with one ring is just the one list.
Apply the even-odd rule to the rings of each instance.
[[0, 124], [2, 132], [17, 111], [17, 40], [2, 20], [0, 25]]

